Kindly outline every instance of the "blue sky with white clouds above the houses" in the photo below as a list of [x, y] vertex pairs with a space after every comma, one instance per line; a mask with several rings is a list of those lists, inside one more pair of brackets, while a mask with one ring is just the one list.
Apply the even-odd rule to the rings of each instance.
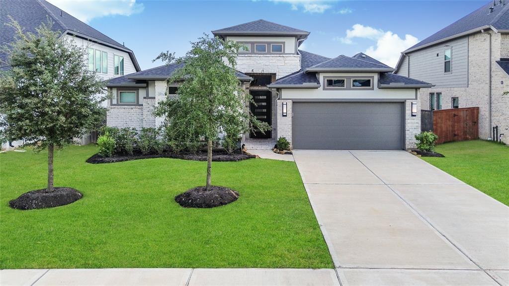
[[334, 58], [364, 52], [394, 67], [400, 53], [489, 1], [48, 0], [134, 51], [142, 70], [162, 51], [182, 56], [204, 33], [249, 21], [310, 32], [300, 49]]

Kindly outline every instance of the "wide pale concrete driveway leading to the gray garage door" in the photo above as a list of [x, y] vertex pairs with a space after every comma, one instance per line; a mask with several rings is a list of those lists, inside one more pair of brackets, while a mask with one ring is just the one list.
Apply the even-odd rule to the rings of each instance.
[[509, 207], [405, 151], [294, 151], [347, 285], [509, 285]]

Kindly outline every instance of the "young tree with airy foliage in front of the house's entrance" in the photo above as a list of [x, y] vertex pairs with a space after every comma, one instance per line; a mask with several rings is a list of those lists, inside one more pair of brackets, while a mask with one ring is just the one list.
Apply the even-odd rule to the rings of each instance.
[[[236, 56], [242, 47], [233, 41], [205, 35], [191, 43], [192, 48], [177, 60], [181, 64], [168, 82], [181, 82], [177, 97], [161, 101], [154, 115], [164, 117], [167, 136], [181, 142], [196, 138], [207, 141], [207, 184], [211, 186], [212, 146], [222, 131], [235, 136], [250, 129], [269, 130], [249, 111], [250, 95], [241, 88], [236, 76]], [[174, 54], [161, 53], [161, 59], [172, 63]]]

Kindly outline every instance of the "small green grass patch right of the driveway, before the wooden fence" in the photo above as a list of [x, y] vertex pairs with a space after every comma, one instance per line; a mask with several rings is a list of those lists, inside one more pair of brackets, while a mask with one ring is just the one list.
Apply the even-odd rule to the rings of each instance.
[[422, 159], [509, 206], [509, 147], [472, 140], [438, 145], [435, 151], [445, 158]]

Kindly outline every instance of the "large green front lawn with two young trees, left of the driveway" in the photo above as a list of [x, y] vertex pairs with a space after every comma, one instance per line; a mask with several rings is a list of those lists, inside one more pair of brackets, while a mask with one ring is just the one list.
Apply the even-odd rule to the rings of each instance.
[[0, 268], [332, 268], [293, 162], [214, 162], [212, 183], [240, 198], [185, 209], [174, 197], [204, 185], [206, 162], [85, 163], [96, 152], [92, 145], [55, 152], [55, 186], [83, 197], [29, 211], [8, 202], [45, 187], [47, 153], [0, 154]]

